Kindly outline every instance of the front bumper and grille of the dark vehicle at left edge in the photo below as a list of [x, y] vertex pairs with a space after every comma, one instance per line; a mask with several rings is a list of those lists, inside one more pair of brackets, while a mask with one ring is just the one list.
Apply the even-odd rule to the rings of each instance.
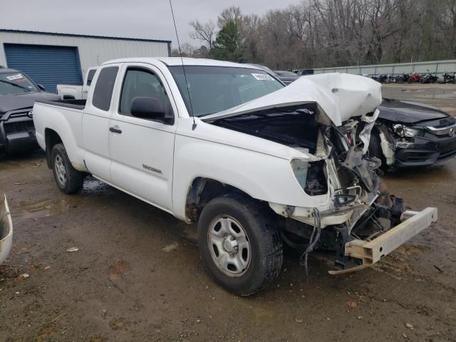
[[4, 114], [0, 120], [0, 150], [7, 153], [23, 152], [37, 147], [30, 110], [16, 110]]

